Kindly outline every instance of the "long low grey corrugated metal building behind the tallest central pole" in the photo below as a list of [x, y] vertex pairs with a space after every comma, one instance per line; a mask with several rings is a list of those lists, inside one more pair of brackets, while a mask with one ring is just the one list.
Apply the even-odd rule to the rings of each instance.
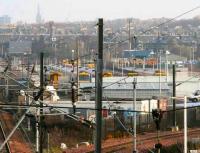
[[[84, 91], [92, 91], [87, 94], [88, 98], [94, 99], [95, 83], [81, 83], [80, 88]], [[136, 84], [137, 100], [151, 99], [160, 96], [159, 82], [138, 82]], [[161, 83], [161, 97], [169, 97], [170, 88], [167, 83]], [[103, 97], [110, 100], [132, 100], [133, 99], [133, 83], [103, 83]]]

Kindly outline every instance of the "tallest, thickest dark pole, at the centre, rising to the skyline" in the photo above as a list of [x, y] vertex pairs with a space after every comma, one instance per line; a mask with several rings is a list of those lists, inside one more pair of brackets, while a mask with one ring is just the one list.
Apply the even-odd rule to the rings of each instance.
[[96, 84], [96, 135], [95, 135], [95, 153], [101, 153], [101, 131], [102, 131], [102, 77], [103, 77], [103, 19], [98, 22], [98, 58], [97, 72], [95, 78]]

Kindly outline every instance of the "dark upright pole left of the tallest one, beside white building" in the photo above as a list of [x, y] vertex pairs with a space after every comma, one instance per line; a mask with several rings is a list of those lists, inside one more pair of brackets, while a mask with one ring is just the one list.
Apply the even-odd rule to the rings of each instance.
[[[44, 58], [44, 53], [40, 53], [40, 90], [41, 90], [41, 95], [40, 95], [40, 100], [43, 101], [43, 91], [44, 91], [44, 62], [43, 62], [43, 58]], [[43, 153], [43, 141], [42, 141], [42, 137], [43, 137], [43, 116], [41, 116], [43, 114], [43, 103], [40, 103], [40, 116], [39, 116], [39, 140], [40, 140], [40, 153]]]

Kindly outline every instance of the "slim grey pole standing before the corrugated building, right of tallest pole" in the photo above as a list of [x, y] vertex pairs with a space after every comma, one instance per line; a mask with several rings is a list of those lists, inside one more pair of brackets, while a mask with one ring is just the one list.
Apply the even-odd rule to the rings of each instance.
[[133, 110], [134, 110], [134, 135], [133, 135], [133, 153], [137, 153], [137, 141], [136, 141], [136, 128], [137, 128], [137, 114], [136, 114], [136, 78], [133, 80]]

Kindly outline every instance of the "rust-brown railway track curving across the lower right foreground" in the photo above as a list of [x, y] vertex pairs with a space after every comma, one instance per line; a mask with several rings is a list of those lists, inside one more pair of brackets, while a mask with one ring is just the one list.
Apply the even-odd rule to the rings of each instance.
[[[189, 129], [188, 137], [196, 137], [200, 134], [200, 128]], [[178, 132], [161, 132], [160, 142], [163, 146], [171, 146], [177, 144], [177, 142], [183, 142], [183, 131]], [[150, 149], [154, 148], [157, 143], [156, 133], [145, 133], [144, 135], [137, 135], [137, 149], [140, 153], [147, 153]], [[106, 140], [102, 143], [103, 153], [126, 153], [132, 152], [133, 139], [132, 138], [122, 138], [122, 139], [111, 139]], [[78, 149], [68, 149], [67, 153], [93, 153], [94, 146], [90, 147], [80, 147]]]

